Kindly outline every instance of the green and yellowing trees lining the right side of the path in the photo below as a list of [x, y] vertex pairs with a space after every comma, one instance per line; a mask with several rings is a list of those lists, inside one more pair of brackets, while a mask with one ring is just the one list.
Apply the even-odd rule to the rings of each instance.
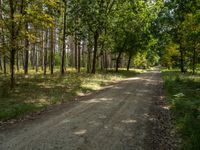
[[200, 1], [166, 1], [154, 22], [154, 33], [162, 65], [194, 74], [200, 60]]

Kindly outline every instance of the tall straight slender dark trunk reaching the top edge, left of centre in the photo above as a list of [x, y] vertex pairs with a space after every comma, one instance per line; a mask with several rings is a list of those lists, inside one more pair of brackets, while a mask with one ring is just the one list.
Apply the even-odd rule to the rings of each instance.
[[62, 45], [62, 61], [61, 61], [61, 74], [64, 75], [65, 73], [65, 51], [66, 51], [66, 43], [65, 43], [65, 36], [66, 36], [66, 11], [67, 11], [67, 2], [65, 1], [65, 8], [64, 8], [64, 24], [63, 24], [63, 45]]

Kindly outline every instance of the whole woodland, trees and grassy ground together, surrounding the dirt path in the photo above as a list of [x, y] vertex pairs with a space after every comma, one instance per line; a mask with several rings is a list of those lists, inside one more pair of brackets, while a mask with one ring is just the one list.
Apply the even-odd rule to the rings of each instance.
[[197, 150], [200, 0], [0, 0], [2, 121], [155, 66], [184, 149]]

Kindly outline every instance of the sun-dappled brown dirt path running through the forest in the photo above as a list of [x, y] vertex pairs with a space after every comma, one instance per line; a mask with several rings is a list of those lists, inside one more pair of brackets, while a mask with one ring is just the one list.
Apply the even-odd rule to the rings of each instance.
[[[144, 150], [158, 70], [0, 132], [1, 150]], [[148, 143], [148, 142], [147, 142]]]

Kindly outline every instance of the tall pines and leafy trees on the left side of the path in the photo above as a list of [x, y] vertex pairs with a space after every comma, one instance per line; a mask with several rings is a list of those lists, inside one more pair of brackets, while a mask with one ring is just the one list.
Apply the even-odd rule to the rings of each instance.
[[[1, 0], [0, 69], [28, 74], [67, 67], [95, 73], [127, 64], [147, 49], [149, 28], [161, 1], [144, 0]], [[145, 45], [145, 46], [144, 46]], [[127, 63], [125, 60], [128, 58]], [[123, 61], [122, 61], [123, 60]]]

